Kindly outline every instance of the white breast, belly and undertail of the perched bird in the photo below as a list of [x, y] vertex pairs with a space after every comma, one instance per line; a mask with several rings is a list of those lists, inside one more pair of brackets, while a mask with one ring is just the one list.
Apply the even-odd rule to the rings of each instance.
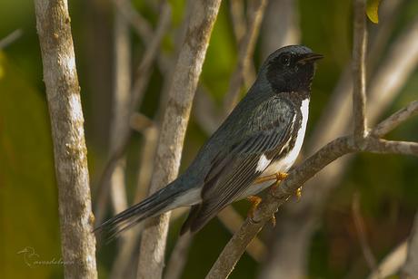
[[[260, 177], [266, 177], [273, 175], [277, 172], [286, 172], [289, 168], [291, 168], [294, 165], [294, 161], [299, 156], [299, 152], [302, 149], [302, 144], [304, 143], [304, 132], [306, 131], [306, 124], [308, 122], [308, 112], [309, 112], [309, 99], [306, 99], [302, 101], [302, 125], [301, 128], [298, 130], [296, 135], [296, 140], [294, 142], [294, 149], [292, 149], [289, 153], [287, 153], [286, 156], [283, 158], [276, 160], [275, 162], [268, 165], [267, 168], [264, 169], [263, 174]], [[259, 161], [259, 166], [262, 167], [262, 165], [265, 164], [265, 157], [263, 156], [262, 159]], [[254, 195], [265, 188], [268, 188], [274, 183], [274, 180], [267, 181], [260, 184], [253, 184], [250, 186], [244, 194], [241, 196], [241, 198], [248, 197], [251, 195]]]

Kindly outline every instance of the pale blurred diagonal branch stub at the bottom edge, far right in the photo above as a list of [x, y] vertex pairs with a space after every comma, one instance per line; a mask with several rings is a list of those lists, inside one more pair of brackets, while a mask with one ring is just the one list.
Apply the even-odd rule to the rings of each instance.
[[401, 245], [398, 245], [389, 255], [387, 255], [382, 263], [377, 267], [368, 279], [381, 279], [387, 278], [399, 271], [402, 265], [405, 263], [406, 254], [408, 253], [408, 243], [403, 241]]

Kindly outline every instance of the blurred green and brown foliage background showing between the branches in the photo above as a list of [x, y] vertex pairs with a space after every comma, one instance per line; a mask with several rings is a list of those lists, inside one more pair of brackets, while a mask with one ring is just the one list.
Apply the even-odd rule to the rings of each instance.
[[[185, 1], [170, 0], [170, 3], [173, 5], [170, 34], [174, 34], [182, 24]], [[113, 88], [114, 6], [111, 2], [95, 0], [70, 1], [69, 5], [85, 112], [89, 168], [92, 186], [95, 186], [107, 155]], [[133, 5], [154, 27], [158, 18], [155, 3], [134, 0]], [[351, 9], [349, 0], [299, 0], [302, 43], [325, 56], [314, 79], [307, 137], [314, 130], [343, 68], [349, 63]], [[416, 14], [418, 1], [405, 0], [395, 20], [390, 43]], [[34, 4], [24, 0], [1, 1], [0, 23], [0, 39], [15, 29], [24, 31], [21, 38], [0, 53], [0, 277], [60, 278], [62, 265], [31, 268], [25, 265], [24, 255], [17, 254], [30, 246], [42, 260], [61, 257], [52, 142], [35, 32]], [[144, 42], [134, 31], [131, 37], [135, 68], [144, 53]], [[260, 49], [257, 47], [258, 53], [254, 54], [256, 66], [260, 64], [258, 58], [264, 57]], [[168, 55], [174, 52], [171, 35], [164, 37], [163, 52]], [[237, 43], [229, 3], [225, 0], [214, 26], [201, 77], [201, 83], [219, 107], [228, 89], [236, 59]], [[140, 108], [149, 117], [154, 117], [158, 108], [163, 82], [163, 73], [155, 67]], [[418, 99], [417, 88], [418, 72], [415, 71], [399, 97], [383, 112], [383, 117]], [[389, 138], [418, 140], [417, 127], [418, 120], [415, 118], [394, 130]], [[182, 169], [188, 166], [207, 137], [192, 116], [184, 144]], [[141, 140], [141, 135], [135, 134], [127, 154], [129, 201], [133, 199]], [[368, 274], [353, 228], [351, 204], [354, 192], [361, 197], [366, 231], [377, 259], [382, 259], [408, 236], [418, 205], [417, 167], [416, 158], [403, 156], [362, 154], [353, 160], [342, 185], [333, 191], [322, 216], [323, 222], [314, 236], [309, 255], [312, 278], [360, 278]], [[248, 206], [241, 202], [235, 207], [244, 214]], [[109, 216], [111, 214], [109, 212]], [[177, 218], [173, 222], [168, 236], [167, 259], [183, 219]], [[265, 231], [269, 230], [270, 227], [265, 228]], [[204, 227], [194, 238], [184, 278], [204, 277], [229, 237], [230, 234], [217, 220]], [[101, 277], [105, 278], [110, 273], [115, 251], [114, 243], [102, 245], [98, 250]], [[254, 278], [258, 267], [252, 258], [244, 255], [231, 277]]]

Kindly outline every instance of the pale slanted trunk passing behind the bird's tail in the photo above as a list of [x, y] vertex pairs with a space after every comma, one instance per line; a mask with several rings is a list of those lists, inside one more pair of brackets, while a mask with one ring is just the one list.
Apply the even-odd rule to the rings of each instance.
[[[194, 91], [220, 4], [220, 0], [194, 2], [164, 112], [150, 194], [177, 176]], [[165, 213], [145, 223], [139, 256], [139, 278], [160, 278], [162, 275], [169, 216], [170, 213]]]

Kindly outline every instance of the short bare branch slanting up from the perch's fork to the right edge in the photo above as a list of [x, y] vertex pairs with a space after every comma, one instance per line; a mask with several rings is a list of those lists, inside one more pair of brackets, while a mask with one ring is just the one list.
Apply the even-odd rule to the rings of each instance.
[[411, 102], [408, 106], [394, 113], [391, 117], [379, 123], [371, 132], [373, 137], [382, 138], [391, 130], [398, 127], [404, 120], [418, 114], [418, 101]]

